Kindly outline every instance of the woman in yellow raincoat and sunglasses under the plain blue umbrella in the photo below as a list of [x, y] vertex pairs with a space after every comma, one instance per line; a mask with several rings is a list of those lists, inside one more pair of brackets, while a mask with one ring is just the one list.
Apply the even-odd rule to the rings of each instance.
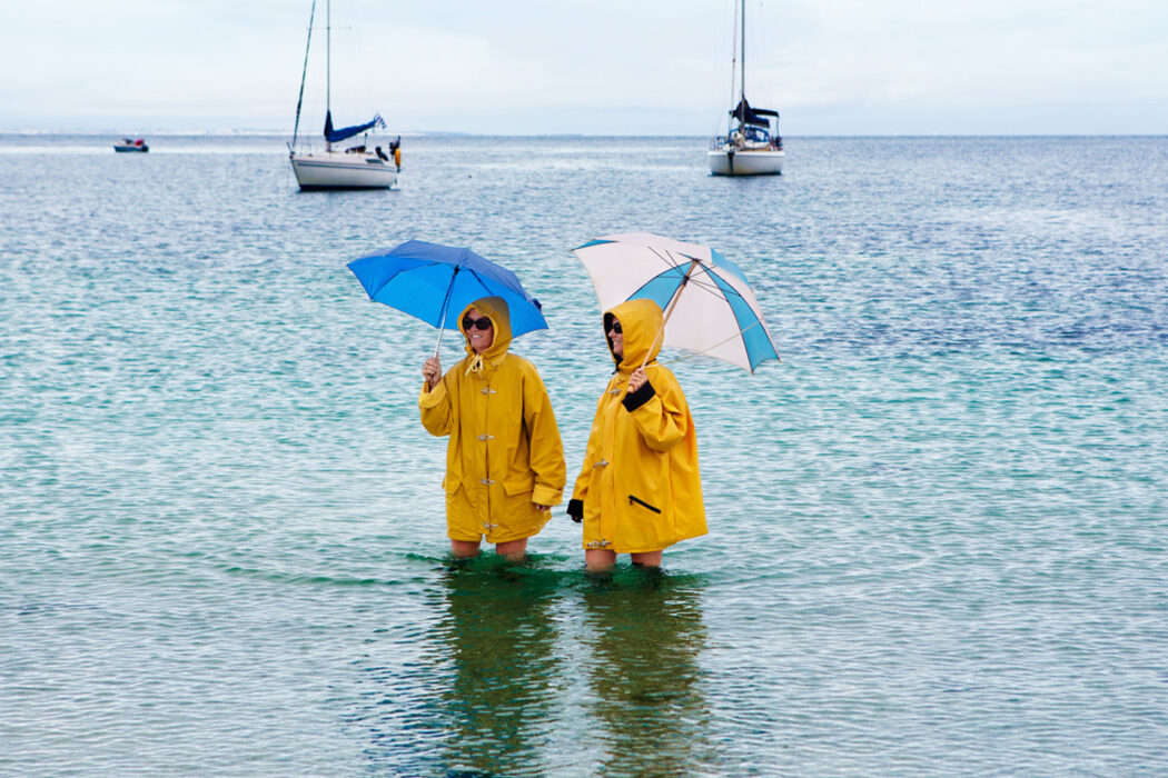
[[466, 358], [443, 376], [438, 357], [422, 369], [418, 405], [446, 448], [446, 534], [456, 556], [486, 538], [523, 559], [564, 490], [564, 448], [535, 365], [508, 353], [510, 311], [501, 297], [477, 300], [459, 316]]

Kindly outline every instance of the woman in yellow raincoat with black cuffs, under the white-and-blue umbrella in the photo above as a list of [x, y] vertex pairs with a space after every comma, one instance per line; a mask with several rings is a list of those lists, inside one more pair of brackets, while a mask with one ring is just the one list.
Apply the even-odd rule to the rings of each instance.
[[705, 534], [694, 418], [677, 379], [656, 363], [661, 325], [661, 307], [652, 300], [604, 314], [617, 370], [597, 402], [568, 504], [584, 524], [584, 561], [592, 572], [610, 569], [624, 553], [634, 565], [659, 567], [663, 548]]

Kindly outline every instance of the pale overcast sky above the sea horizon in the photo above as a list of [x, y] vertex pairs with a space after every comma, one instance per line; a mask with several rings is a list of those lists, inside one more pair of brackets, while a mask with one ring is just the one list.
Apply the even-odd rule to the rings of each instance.
[[[724, 129], [736, 0], [334, 0], [338, 125]], [[312, 0], [0, 0], [0, 132], [291, 133]], [[748, 0], [784, 135], [1168, 134], [1168, 0]], [[301, 132], [325, 110], [318, 0]]]

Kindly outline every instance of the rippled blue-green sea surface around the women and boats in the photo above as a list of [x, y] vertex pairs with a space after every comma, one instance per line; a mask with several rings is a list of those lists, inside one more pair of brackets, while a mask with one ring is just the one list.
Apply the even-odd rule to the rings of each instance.
[[[0, 775], [1162, 776], [1168, 138], [0, 135]], [[575, 478], [611, 363], [570, 250], [752, 282], [783, 357], [666, 352], [708, 535], [449, 556], [437, 334], [346, 262], [514, 269]], [[442, 345], [446, 366], [460, 357]]]

